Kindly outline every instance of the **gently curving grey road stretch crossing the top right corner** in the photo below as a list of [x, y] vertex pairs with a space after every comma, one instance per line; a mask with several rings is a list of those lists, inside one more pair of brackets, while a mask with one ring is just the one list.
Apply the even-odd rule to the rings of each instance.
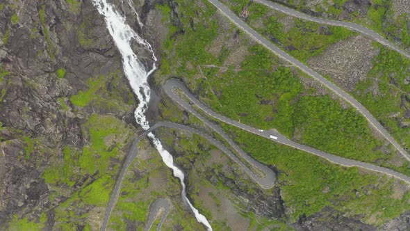
[[307, 15], [307, 14], [302, 13], [300, 11], [293, 10], [291, 8], [287, 8], [286, 6], [282, 6], [281, 4], [275, 3], [273, 1], [254, 0], [254, 2], [262, 3], [265, 6], [268, 6], [272, 9], [274, 9], [274, 10], [277, 10], [281, 13], [286, 14], [286, 15], [290, 15], [292, 17], [297, 17], [297, 18], [300, 18], [300, 19], [305, 19], [307, 21], [318, 22], [320, 24], [327, 24], [327, 25], [331, 25], [331, 26], [343, 26], [346, 29], [350, 29], [352, 31], [356, 31], [358, 33], [366, 35], [368, 38], [371, 38], [372, 40], [375, 40], [375, 41], [379, 42], [380, 44], [382, 44], [386, 47], [394, 49], [395, 51], [397, 51], [400, 54], [406, 56], [407, 58], [410, 58], [409, 52], [400, 49], [400, 47], [397, 47], [396, 45], [394, 45], [390, 41], [386, 40], [386, 38], [383, 38], [382, 35], [379, 35], [375, 31], [372, 31], [371, 29], [368, 29], [365, 26], [361, 26], [359, 24], [354, 24], [352, 22], [343, 22], [343, 21], [325, 19], [325, 18], [321, 18], [321, 17], [313, 17], [311, 15]]

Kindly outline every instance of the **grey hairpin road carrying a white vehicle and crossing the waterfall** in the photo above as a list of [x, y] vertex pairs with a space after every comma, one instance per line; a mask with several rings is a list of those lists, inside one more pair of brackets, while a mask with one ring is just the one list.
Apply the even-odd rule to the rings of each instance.
[[243, 129], [247, 132], [251, 132], [251, 133], [256, 134], [258, 136], [268, 138], [271, 141], [272, 141], [271, 136], [277, 136], [277, 139], [273, 140], [273, 141], [275, 141], [277, 143], [284, 144], [284, 145], [288, 145], [288, 146], [293, 147], [293, 148], [297, 148], [297, 149], [302, 150], [304, 152], [309, 152], [311, 154], [315, 154], [316, 156], [327, 159], [328, 161], [330, 161], [334, 164], [339, 164], [341, 166], [346, 166], [346, 167], [359, 167], [359, 168], [364, 168], [364, 169], [372, 170], [372, 171], [379, 172], [379, 173], [384, 173], [386, 175], [390, 175], [391, 177], [395, 177], [399, 180], [402, 180], [402, 181], [407, 182], [408, 184], [410, 184], [410, 177], [408, 177], [407, 175], [403, 175], [401, 173], [397, 173], [397, 172], [395, 172], [393, 170], [390, 170], [388, 168], [383, 168], [383, 167], [380, 167], [380, 166], [375, 166], [375, 165], [372, 165], [372, 164], [363, 163], [361, 161], [354, 161], [352, 159], [345, 159], [343, 157], [338, 157], [338, 156], [335, 156], [333, 154], [329, 154], [327, 152], [322, 152], [320, 150], [315, 150], [314, 148], [311, 148], [309, 146], [302, 145], [300, 143], [295, 143], [293, 141], [290, 141], [288, 138], [286, 138], [286, 136], [283, 136], [279, 132], [265, 131], [265, 130], [261, 130], [261, 129], [256, 129], [254, 127], [250, 127], [248, 125], [243, 125], [240, 122], [237, 122], [235, 120], [231, 120], [231, 119], [229, 119], [225, 116], [222, 116], [222, 115], [216, 113], [215, 111], [212, 111], [211, 109], [206, 107], [204, 104], [202, 104], [202, 102], [200, 102], [199, 99], [197, 99], [192, 93], [190, 93], [190, 90], [188, 90], [188, 88], [186, 88], [185, 84], [183, 82], [179, 81], [179, 79], [169, 79], [165, 83], [163, 88], [164, 88], [165, 93], [174, 102], [176, 102], [177, 104], [182, 106], [183, 109], [186, 109], [187, 111], [190, 111], [190, 113], [192, 113], [194, 116], [197, 116], [197, 118], [199, 118], [199, 120], [202, 120], [202, 122], [204, 122], [206, 125], [208, 125], [212, 129], [214, 129], [215, 132], [218, 132], [218, 134], [220, 134], [220, 136], [225, 138], [228, 141], [228, 143], [230, 145], [232, 145], [233, 148], [238, 152], [238, 154], [240, 154], [240, 157], [245, 159], [245, 161], [247, 161], [253, 167], [258, 168], [259, 170], [261, 170], [264, 173], [264, 177], [260, 177], [259, 175], [256, 175], [242, 161], [240, 161], [240, 159], [238, 159], [238, 157], [236, 157], [236, 155], [233, 154], [226, 146], [224, 146], [220, 141], [217, 141], [215, 138], [209, 136], [208, 134], [205, 134], [204, 132], [201, 132], [201, 131], [199, 131], [197, 129], [194, 129], [192, 127], [188, 127], [186, 125], [181, 125], [181, 124], [174, 123], [174, 122], [158, 122], [158, 123], [156, 123], [156, 125], [150, 127], [145, 132], [143, 132], [140, 136], [138, 136], [138, 138], [136, 138], [135, 141], [133, 141], [133, 144], [131, 145], [129, 153], [126, 156], [124, 164], [122, 165], [120, 175], [118, 175], [117, 181], [115, 182], [113, 192], [111, 193], [110, 201], [108, 202], [108, 206], [107, 206], [107, 209], [106, 209], [106, 213], [104, 215], [103, 223], [101, 225], [101, 230], [103, 230], [103, 231], [106, 230], [110, 215], [113, 212], [113, 207], [115, 206], [115, 203], [117, 202], [117, 198], [118, 198], [118, 195], [120, 193], [121, 184], [122, 184], [122, 181], [124, 180], [124, 175], [126, 173], [126, 170], [129, 168], [132, 161], [134, 159], [136, 159], [136, 157], [137, 157], [138, 143], [140, 142], [140, 140], [142, 138], [147, 136], [147, 134], [151, 133], [152, 131], [154, 131], [155, 129], [158, 129], [160, 127], [168, 127], [168, 128], [172, 128], [172, 129], [181, 129], [181, 130], [185, 130], [187, 132], [193, 133], [193, 134], [198, 134], [199, 136], [202, 136], [202, 137], [206, 138], [206, 140], [208, 140], [216, 148], [222, 150], [222, 152], [227, 154], [228, 157], [230, 157], [233, 161], [236, 162], [236, 164], [238, 164], [241, 168], [243, 168], [245, 173], [247, 173], [250, 177], [252, 177], [252, 180], [254, 180], [261, 187], [263, 187], [264, 189], [269, 189], [270, 187], [272, 187], [274, 185], [274, 182], [276, 180], [276, 175], [273, 173], [273, 171], [270, 168], [264, 166], [263, 164], [259, 163], [256, 160], [252, 159], [252, 157], [249, 157], [245, 152], [240, 150], [240, 148], [238, 148], [238, 145], [236, 145], [236, 143], [231, 141], [231, 139], [227, 136], [227, 134], [225, 134], [222, 131], [222, 129], [220, 129], [220, 127], [213, 124], [209, 120], [206, 120], [206, 118], [204, 118], [201, 114], [199, 114], [188, 102], [186, 102], [184, 99], [182, 99], [175, 92], [176, 88], [178, 88], [181, 91], [181, 93], [183, 93], [183, 95], [185, 95], [185, 97], [187, 97], [188, 100], [190, 100], [190, 102], [192, 102], [192, 104], [195, 104], [196, 106], [198, 106], [199, 109], [204, 111], [204, 113], [206, 113], [208, 116], [211, 116], [212, 118], [215, 118], [217, 120], [225, 122], [229, 125], [233, 125], [235, 127]]

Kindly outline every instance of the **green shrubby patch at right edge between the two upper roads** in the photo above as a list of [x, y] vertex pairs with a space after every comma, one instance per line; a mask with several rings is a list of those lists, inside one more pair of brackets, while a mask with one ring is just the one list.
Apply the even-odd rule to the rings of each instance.
[[[355, 92], [356, 98], [370, 113], [382, 121], [399, 143], [407, 147], [410, 145], [410, 127], [400, 124], [409, 121], [404, 118], [408, 107], [405, 97], [410, 92], [410, 85], [406, 83], [410, 74], [409, 65], [409, 59], [381, 47], [368, 79], [359, 83]], [[397, 117], [392, 116], [396, 113], [399, 113]]]

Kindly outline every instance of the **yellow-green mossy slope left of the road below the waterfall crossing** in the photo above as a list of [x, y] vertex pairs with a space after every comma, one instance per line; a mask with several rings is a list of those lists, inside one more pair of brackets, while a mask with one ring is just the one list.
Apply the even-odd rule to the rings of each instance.
[[[94, 113], [83, 127], [83, 136], [89, 144], [83, 150], [65, 146], [63, 158], [54, 161], [56, 165], [49, 166], [42, 175], [49, 188], [53, 189], [51, 200], [58, 195], [67, 197], [55, 210], [57, 229], [71, 230], [76, 225], [87, 225], [89, 218], [95, 218], [93, 213], [106, 207], [115, 175], [124, 158], [121, 150], [133, 138], [131, 127], [115, 116]], [[90, 211], [90, 208], [95, 209]]]

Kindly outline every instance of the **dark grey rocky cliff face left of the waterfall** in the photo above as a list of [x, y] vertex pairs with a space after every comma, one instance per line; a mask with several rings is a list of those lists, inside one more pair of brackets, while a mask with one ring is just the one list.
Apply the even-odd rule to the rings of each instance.
[[[67, 145], [82, 152], [90, 143], [84, 123], [92, 113], [131, 123], [133, 97], [124, 78], [112, 77], [120, 56], [91, 1], [1, 0], [0, 38], [0, 229], [22, 216], [38, 221], [42, 212], [51, 228], [53, 208], [68, 197], [49, 198], [44, 170], [58, 165]], [[100, 76], [99, 97], [117, 94], [120, 110], [73, 105], [69, 98]], [[97, 177], [72, 180], [81, 189]]]

